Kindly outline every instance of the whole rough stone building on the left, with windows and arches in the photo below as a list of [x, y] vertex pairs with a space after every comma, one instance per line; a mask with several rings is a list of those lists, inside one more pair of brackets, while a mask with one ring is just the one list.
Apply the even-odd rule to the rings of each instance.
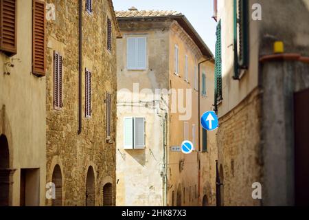
[[112, 1], [91, 2], [49, 1], [46, 178], [56, 187], [49, 206], [115, 205], [119, 31]]

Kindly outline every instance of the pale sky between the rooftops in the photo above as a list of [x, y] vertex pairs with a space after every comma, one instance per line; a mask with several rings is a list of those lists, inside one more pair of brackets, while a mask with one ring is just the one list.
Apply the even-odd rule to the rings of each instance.
[[213, 0], [113, 0], [115, 10], [175, 10], [185, 14], [214, 54], [216, 21], [212, 19]]

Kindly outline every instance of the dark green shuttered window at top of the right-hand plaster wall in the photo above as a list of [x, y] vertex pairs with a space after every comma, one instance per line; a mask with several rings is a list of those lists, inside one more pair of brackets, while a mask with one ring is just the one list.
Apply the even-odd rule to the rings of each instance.
[[234, 79], [249, 66], [249, 6], [247, 0], [233, 1]]

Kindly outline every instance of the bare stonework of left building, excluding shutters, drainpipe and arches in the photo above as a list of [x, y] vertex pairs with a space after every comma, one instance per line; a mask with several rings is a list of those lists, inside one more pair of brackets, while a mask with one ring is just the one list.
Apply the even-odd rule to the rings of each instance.
[[[82, 133], [78, 131], [78, 1], [51, 0], [56, 20], [47, 22], [47, 182], [54, 166], [62, 173], [62, 205], [84, 206], [89, 166], [94, 170], [95, 205], [102, 205], [103, 186], [113, 185], [115, 204], [116, 30], [109, 1], [82, 1]], [[112, 51], [106, 48], [106, 19], [112, 21]], [[54, 110], [54, 51], [63, 56], [61, 111]], [[91, 118], [84, 117], [85, 68], [92, 73]], [[111, 143], [106, 142], [106, 91], [111, 94]], [[47, 200], [47, 204], [51, 204]]]

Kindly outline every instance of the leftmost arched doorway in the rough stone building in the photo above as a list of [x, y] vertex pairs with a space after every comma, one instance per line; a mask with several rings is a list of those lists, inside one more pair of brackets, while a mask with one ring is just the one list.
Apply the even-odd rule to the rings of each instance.
[[62, 206], [62, 175], [60, 166], [57, 164], [54, 168], [52, 182], [55, 184], [56, 198], [52, 199], [52, 206]]

